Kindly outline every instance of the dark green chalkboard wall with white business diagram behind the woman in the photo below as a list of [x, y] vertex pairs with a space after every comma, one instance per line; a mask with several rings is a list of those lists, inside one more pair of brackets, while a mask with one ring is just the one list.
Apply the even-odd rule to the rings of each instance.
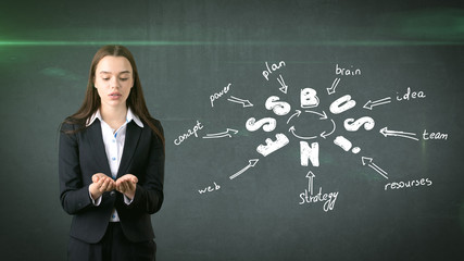
[[166, 134], [159, 260], [462, 260], [464, 4], [0, 10], [2, 260], [65, 260], [58, 128], [105, 44]]

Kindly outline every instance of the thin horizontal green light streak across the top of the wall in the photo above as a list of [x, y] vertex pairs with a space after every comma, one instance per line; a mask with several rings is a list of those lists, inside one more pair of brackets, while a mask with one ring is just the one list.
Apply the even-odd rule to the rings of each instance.
[[60, 46], [334, 46], [334, 47], [402, 47], [402, 46], [464, 46], [464, 41], [434, 40], [326, 40], [326, 41], [46, 41], [3, 40], [0, 47], [60, 47]]

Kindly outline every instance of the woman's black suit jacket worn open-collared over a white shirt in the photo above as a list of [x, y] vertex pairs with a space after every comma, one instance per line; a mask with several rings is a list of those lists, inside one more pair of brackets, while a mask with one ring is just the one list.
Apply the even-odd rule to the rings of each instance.
[[[159, 121], [153, 120], [162, 132]], [[62, 124], [60, 133], [59, 177], [63, 209], [73, 215], [71, 236], [93, 244], [103, 237], [113, 208], [120, 215], [125, 236], [131, 241], [154, 238], [150, 214], [160, 210], [163, 202], [164, 149], [148, 124], [140, 128], [133, 121], [127, 124], [123, 157], [117, 177], [137, 176], [138, 184], [133, 202], [127, 206], [116, 190], [104, 192], [100, 206], [93, 206], [88, 187], [96, 173], [111, 176], [106, 152], [97, 119], [76, 134], [77, 125]], [[116, 177], [116, 178], [117, 178]]]

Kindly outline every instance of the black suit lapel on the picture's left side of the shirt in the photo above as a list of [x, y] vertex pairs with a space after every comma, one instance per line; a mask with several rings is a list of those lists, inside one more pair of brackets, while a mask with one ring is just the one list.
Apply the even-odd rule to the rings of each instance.
[[101, 134], [101, 123], [96, 120], [88, 128], [91, 153], [95, 156], [97, 165], [102, 172], [111, 176], [110, 163], [108, 163], [106, 151], [104, 149], [103, 136]]

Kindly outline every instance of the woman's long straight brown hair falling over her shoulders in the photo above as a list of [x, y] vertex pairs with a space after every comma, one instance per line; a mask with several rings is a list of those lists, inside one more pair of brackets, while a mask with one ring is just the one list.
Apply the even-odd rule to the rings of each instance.
[[86, 128], [87, 119], [93, 115], [93, 113], [96, 113], [97, 110], [100, 108], [101, 101], [98, 91], [93, 86], [93, 79], [96, 76], [97, 64], [100, 62], [101, 59], [106, 55], [124, 57], [130, 62], [130, 65], [133, 66], [134, 87], [130, 89], [130, 94], [127, 97], [126, 105], [127, 108], [130, 108], [130, 110], [137, 116], [139, 116], [140, 120], [143, 121], [143, 123], [148, 124], [148, 126], [153, 130], [155, 136], [158, 136], [162, 140], [164, 147], [163, 133], [153, 124], [153, 117], [150, 115], [150, 112], [147, 109], [147, 103], [145, 102], [143, 91], [141, 89], [141, 84], [135, 59], [126, 47], [117, 45], [103, 46], [93, 55], [92, 62], [90, 64], [89, 79], [87, 82], [87, 90], [86, 96], [84, 98], [84, 102], [76, 113], [64, 120], [65, 123], [76, 124], [79, 127], [74, 132], [70, 130], [66, 133], [84, 130]]

